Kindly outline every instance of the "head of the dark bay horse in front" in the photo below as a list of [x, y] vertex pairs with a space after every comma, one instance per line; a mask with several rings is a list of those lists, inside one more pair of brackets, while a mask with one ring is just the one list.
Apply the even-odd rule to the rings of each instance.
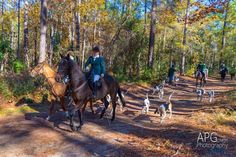
[[57, 69], [57, 75], [56, 75], [56, 81], [62, 82], [63, 78], [69, 75], [70, 73], [70, 68], [73, 64], [73, 60], [70, 58], [70, 55], [62, 55], [61, 60], [58, 64], [58, 69]]

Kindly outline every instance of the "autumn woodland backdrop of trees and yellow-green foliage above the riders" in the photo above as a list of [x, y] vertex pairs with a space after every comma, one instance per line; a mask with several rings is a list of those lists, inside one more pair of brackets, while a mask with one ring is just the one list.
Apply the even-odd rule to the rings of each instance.
[[236, 63], [236, 1], [2, 0], [0, 71], [20, 73], [68, 52], [85, 62], [99, 45], [108, 71], [161, 79], [171, 64], [192, 75]]

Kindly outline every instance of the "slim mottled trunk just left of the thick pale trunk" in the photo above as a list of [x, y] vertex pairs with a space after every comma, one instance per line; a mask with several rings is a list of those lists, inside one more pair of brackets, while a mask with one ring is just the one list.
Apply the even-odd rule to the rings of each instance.
[[24, 10], [24, 59], [27, 67], [29, 67], [29, 31], [28, 31], [28, 3], [25, 2], [25, 10]]

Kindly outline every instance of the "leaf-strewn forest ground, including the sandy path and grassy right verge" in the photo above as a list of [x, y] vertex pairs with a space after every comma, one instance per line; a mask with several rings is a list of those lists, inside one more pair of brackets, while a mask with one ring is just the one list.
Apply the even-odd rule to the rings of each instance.
[[[150, 94], [150, 112], [141, 115], [151, 87], [122, 84], [124, 91], [129, 89], [127, 106], [123, 111], [117, 108], [115, 121], [99, 119], [102, 105], [94, 105], [98, 113], [92, 115], [88, 107], [78, 132], [70, 131], [61, 111], [46, 121], [48, 105], [2, 104], [2, 109], [27, 105], [34, 112], [0, 116], [0, 156], [236, 156], [236, 115], [224, 115], [231, 105], [225, 92], [236, 89], [236, 81], [221, 83], [219, 78], [210, 78], [205, 89], [216, 91], [212, 103], [208, 98], [197, 101], [194, 85], [193, 78], [181, 77], [177, 86], [166, 85], [164, 100]], [[154, 110], [173, 90], [173, 116], [167, 115], [160, 124]], [[208, 133], [212, 136], [205, 141]]]

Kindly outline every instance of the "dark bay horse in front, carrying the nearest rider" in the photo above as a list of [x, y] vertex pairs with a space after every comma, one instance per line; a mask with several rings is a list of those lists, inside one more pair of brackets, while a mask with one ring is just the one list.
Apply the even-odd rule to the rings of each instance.
[[[82, 127], [82, 115], [80, 109], [83, 107], [86, 102], [91, 100], [92, 98], [92, 90], [89, 86], [89, 82], [83, 73], [79, 64], [73, 61], [70, 58], [70, 55], [67, 56], [61, 55], [61, 60], [58, 65], [58, 72], [57, 72], [57, 80], [61, 81], [64, 77], [69, 76], [71, 81], [71, 90], [72, 90], [72, 98], [73, 98], [73, 110], [72, 114], [70, 114], [70, 127], [71, 129], [78, 130]], [[112, 118], [111, 121], [115, 119], [115, 110], [116, 110], [116, 100], [117, 94], [119, 95], [123, 106], [125, 106], [125, 100], [121, 95], [121, 90], [119, 83], [110, 75], [105, 75], [104, 78], [101, 78], [102, 87], [97, 90], [97, 100], [101, 100], [105, 107], [102, 110], [100, 118], [103, 117], [106, 109], [108, 108], [109, 102], [106, 100], [106, 95], [109, 94], [112, 100]], [[73, 118], [75, 112], [78, 112], [80, 125], [75, 126]]]

